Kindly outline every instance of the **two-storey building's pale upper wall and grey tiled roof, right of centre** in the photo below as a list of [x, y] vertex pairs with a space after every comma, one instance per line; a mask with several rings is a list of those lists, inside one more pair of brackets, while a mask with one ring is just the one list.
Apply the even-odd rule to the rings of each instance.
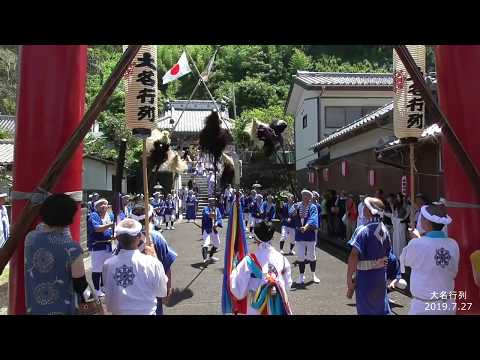
[[338, 129], [390, 102], [391, 74], [297, 71], [285, 111], [295, 117], [295, 164], [300, 186], [308, 163], [319, 157], [310, 148]]

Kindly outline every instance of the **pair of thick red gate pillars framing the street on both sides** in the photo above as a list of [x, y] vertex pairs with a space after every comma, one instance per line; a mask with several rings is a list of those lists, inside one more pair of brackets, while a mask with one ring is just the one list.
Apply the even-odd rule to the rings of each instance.
[[[117, 67], [120, 76], [135, 53], [132, 50], [122, 57], [121, 64]], [[479, 168], [480, 147], [476, 142], [480, 130], [475, 125], [480, 123], [477, 109], [480, 93], [480, 73], [477, 71], [480, 66], [480, 46], [438, 46], [436, 58], [440, 104], [474, 165]], [[22, 46], [19, 68], [14, 190], [32, 192], [37, 189], [58, 152], [80, 124], [85, 110], [87, 46]], [[110, 80], [111, 87], [119, 81]], [[109, 94], [108, 91], [105, 92], [107, 98]], [[97, 107], [98, 112], [101, 111], [102, 104], [104, 103]], [[92, 112], [95, 113], [96, 110], [93, 109]], [[480, 196], [471, 185], [462, 164], [458, 163], [450, 145], [444, 142], [443, 146], [447, 198], [479, 204]], [[53, 191], [81, 190], [82, 151], [81, 145], [76, 148]], [[25, 201], [14, 202], [14, 224], [19, 221], [26, 205]], [[469, 260], [470, 253], [480, 249], [480, 210], [456, 208], [450, 209], [450, 213], [454, 223], [449, 226], [449, 234], [457, 240], [461, 251], [456, 289], [467, 292], [466, 301], [473, 303], [469, 312], [480, 313], [480, 291], [473, 282]], [[26, 230], [28, 229], [24, 229]], [[71, 230], [73, 238], [79, 241], [79, 214]], [[10, 240], [5, 246], [8, 250], [0, 250], [0, 260], [3, 260], [0, 271], [3, 271], [5, 256], [10, 258], [9, 253], [16, 245], [10, 261], [9, 313], [24, 314], [24, 241], [21, 239], [14, 245]]]

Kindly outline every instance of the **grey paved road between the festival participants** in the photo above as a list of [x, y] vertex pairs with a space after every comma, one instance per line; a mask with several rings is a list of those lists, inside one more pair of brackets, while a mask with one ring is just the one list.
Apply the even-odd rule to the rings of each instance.
[[[226, 227], [225, 227], [226, 230]], [[200, 228], [193, 223], [176, 224], [176, 230], [163, 233], [168, 243], [177, 251], [177, 261], [172, 266], [172, 301], [165, 309], [169, 315], [219, 315], [221, 314], [221, 286], [223, 276], [223, 246], [225, 231], [222, 234], [222, 246], [216, 256], [215, 264], [203, 267], [200, 247], [202, 244]], [[275, 234], [273, 244], [278, 246], [280, 235]], [[249, 248], [254, 249], [249, 242]], [[292, 289], [290, 302], [296, 315], [355, 315], [355, 300], [345, 297], [346, 256], [335, 247], [324, 245], [317, 249], [317, 275], [321, 283], [311, 282], [309, 268], [306, 271], [306, 286]], [[292, 263], [295, 258], [288, 256]], [[293, 280], [298, 278], [298, 267], [292, 270]], [[399, 306], [393, 308], [397, 314], [408, 312], [409, 298], [393, 292], [390, 297]]]

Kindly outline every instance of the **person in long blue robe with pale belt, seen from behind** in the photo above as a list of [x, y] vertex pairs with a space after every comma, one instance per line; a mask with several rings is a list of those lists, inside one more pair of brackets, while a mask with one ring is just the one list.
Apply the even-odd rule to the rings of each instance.
[[[387, 315], [387, 265], [391, 252], [390, 234], [381, 221], [385, 206], [380, 199], [364, 200], [367, 223], [357, 228], [348, 242], [352, 251], [348, 258], [347, 287], [355, 290], [359, 315]], [[355, 275], [355, 277], [354, 277]]]

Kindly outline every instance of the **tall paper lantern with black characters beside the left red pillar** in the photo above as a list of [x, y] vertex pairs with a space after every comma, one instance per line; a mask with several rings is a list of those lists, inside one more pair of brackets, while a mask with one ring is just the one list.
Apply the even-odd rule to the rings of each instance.
[[149, 136], [158, 119], [156, 45], [142, 45], [124, 79], [127, 127], [134, 134]]

